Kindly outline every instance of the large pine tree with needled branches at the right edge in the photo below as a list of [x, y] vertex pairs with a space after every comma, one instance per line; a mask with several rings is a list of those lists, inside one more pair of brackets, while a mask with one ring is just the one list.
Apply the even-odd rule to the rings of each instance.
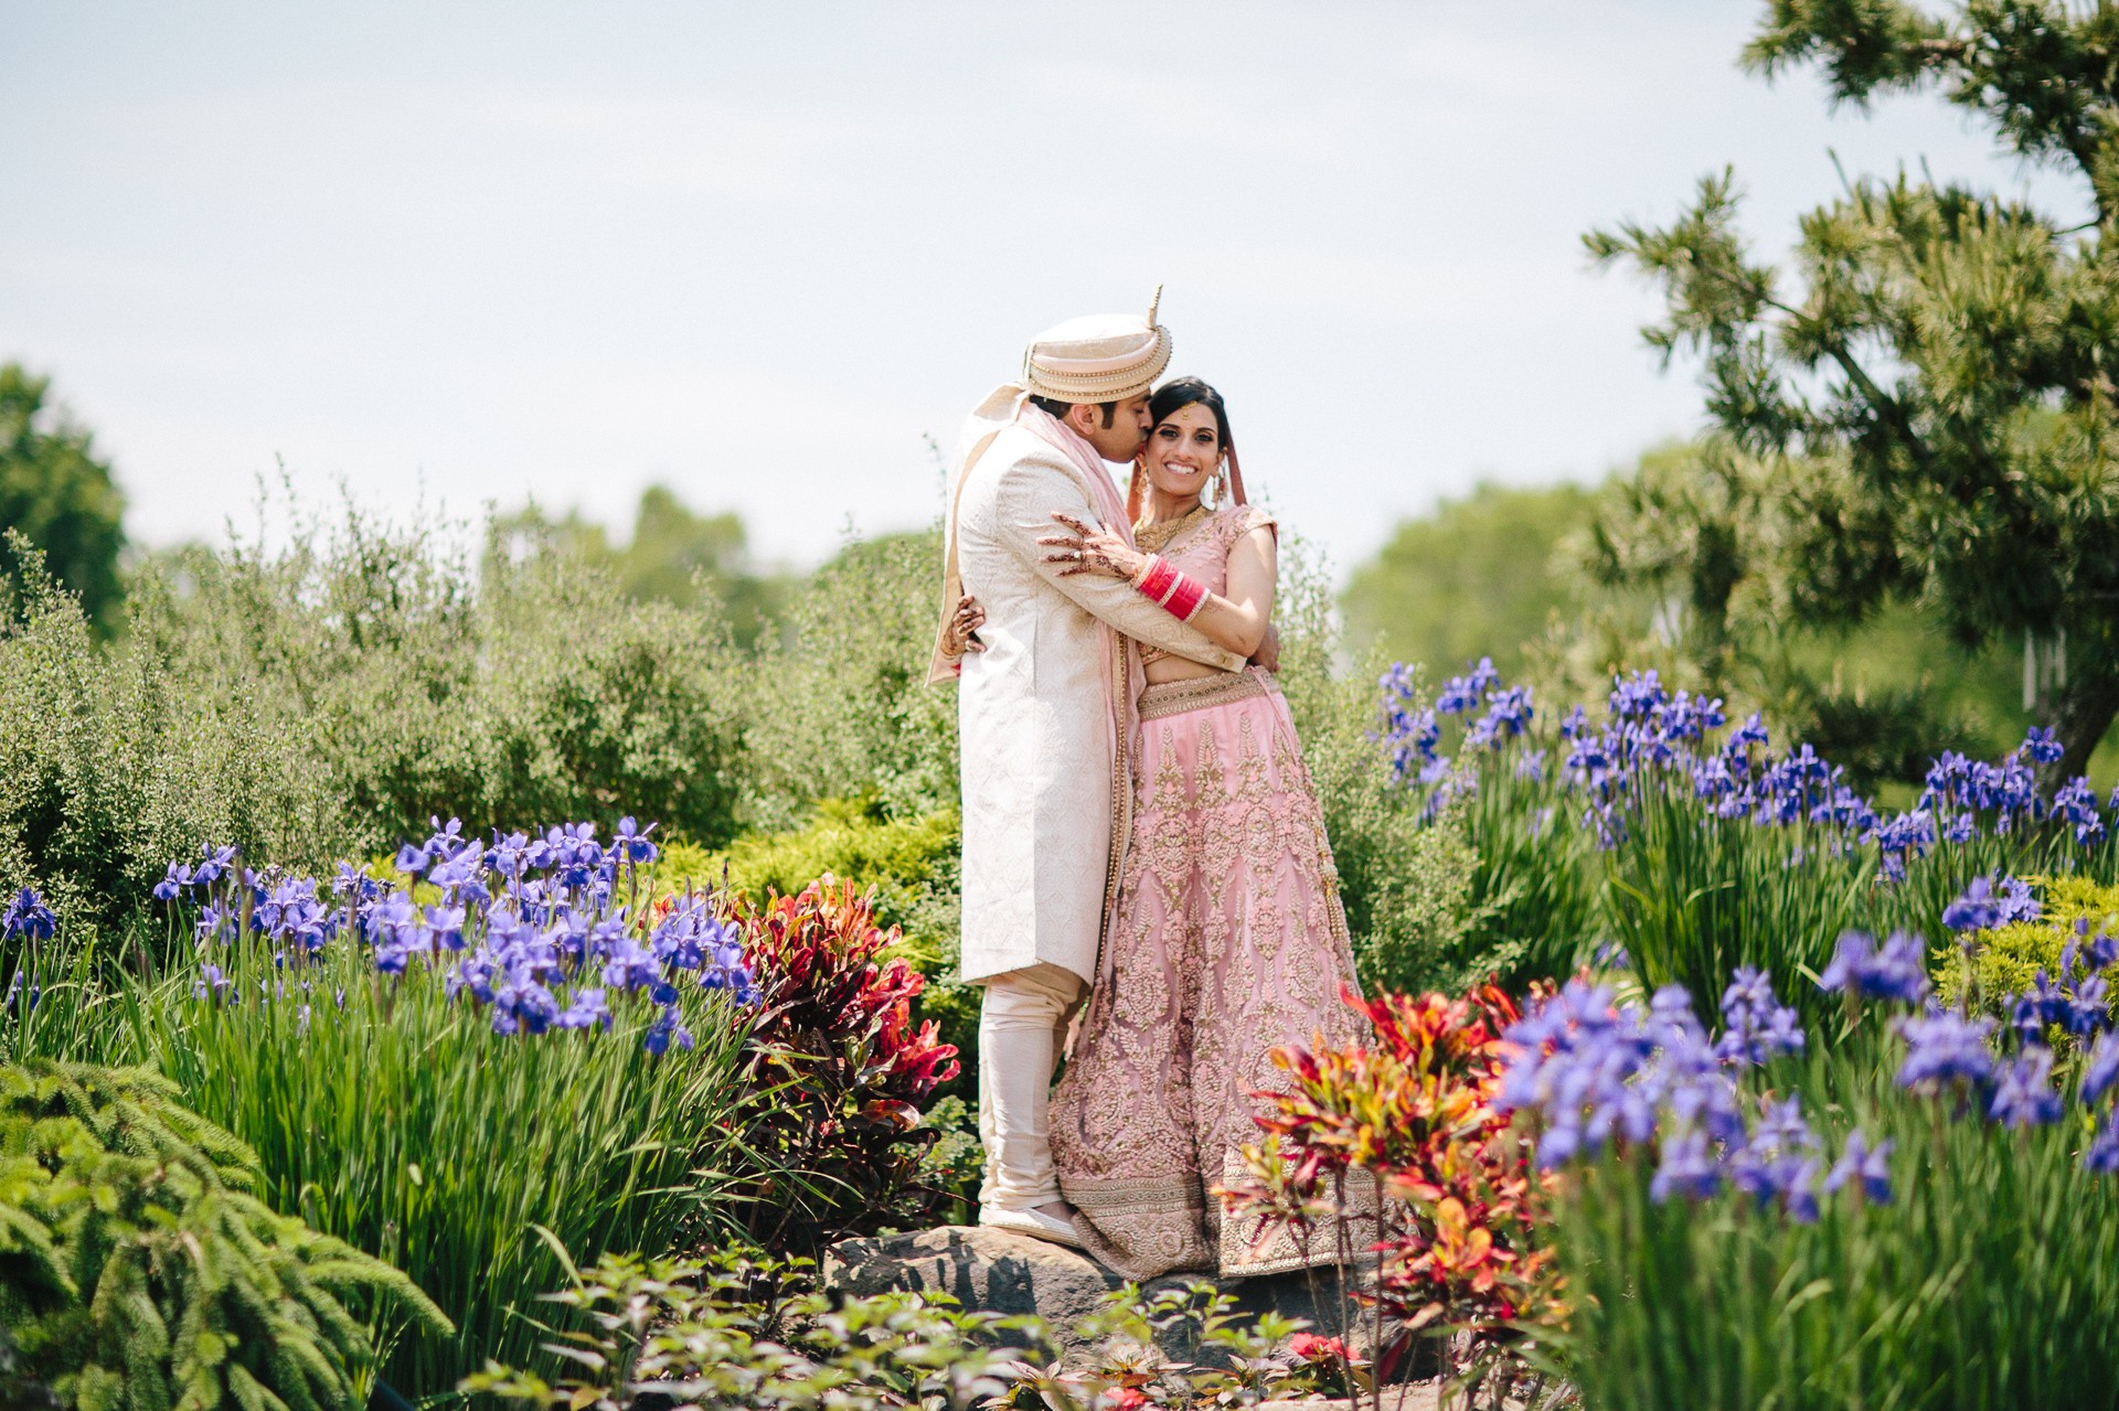
[[2055, 769], [2081, 773], [2119, 714], [2119, 8], [1771, 0], [1742, 61], [1814, 64], [1854, 106], [1941, 89], [2079, 178], [2091, 216], [1858, 178], [1801, 218], [1782, 271], [1746, 250], [1723, 172], [1668, 227], [1587, 235], [1661, 284], [1649, 343], [1704, 356], [1721, 487], [1657, 506], [1697, 540], [1695, 606], [1727, 583], [1723, 604], [1837, 627], [1918, 602], [1964, 648], [2064, 650]]

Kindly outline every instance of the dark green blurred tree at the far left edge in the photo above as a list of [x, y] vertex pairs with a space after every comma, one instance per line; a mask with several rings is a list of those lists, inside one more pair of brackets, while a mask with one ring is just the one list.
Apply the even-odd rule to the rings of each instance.
[[19, 530], [42, 549], [83, 610], [108, 621], [123, 595], [125, 496], [89, 432], [47, 407], [49, 388], [49, 377], [32, 377], [19, 362], [0, 367], [0, 530]]

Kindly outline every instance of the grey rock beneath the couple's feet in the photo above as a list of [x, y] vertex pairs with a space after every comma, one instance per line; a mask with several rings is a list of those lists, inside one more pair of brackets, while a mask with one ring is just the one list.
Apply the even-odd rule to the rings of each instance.
[[[890, 1288], [945, 1292], [966, 1309], [994, 1314], [1036, 1314], [1045, 1320], [1062, 1352], [1081, 1352], [1087, 1341], [1076, 1333], [1081, 1320], [1096, 1311], [1104, 1294], [1123, 1288], [1125, 1280], [1081, 1250], [1032, 1239], [1004, 1229], [977, 1225], [945, 1225], [905, 1235], [841, 1239], [824, 1254], [824, 1284], [850, 1294], [875, 1294]], [[1197, 1282], [1197, 1273], [1172, 1273], [1142, 1284], [1153, 1297], [1163, 1288]], [[1320, 1330], [1337, 1328], [1337, 1282], [1331, 1269], [1316, 1271], [1324, 1307], [1310, 1294], [1310, 1278], [1301, 1271], [1231, 1280], [1244, 1314], [1276, 1311], [1303, 1318]], [[1168, 1350], [1176, 1352], [1176, 1350]]]

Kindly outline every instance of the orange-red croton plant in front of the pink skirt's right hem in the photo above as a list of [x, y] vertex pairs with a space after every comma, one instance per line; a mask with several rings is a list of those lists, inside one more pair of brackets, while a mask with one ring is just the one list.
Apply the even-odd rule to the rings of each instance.
[[1348, 1193], [1373, 1180], [1382, 1216], [1356, 1214], [1348, 1229], [1373, 1233], [1377, 1254], [1375, 1288], [1358, 1297], [1403, 1333], [1379, 1371], [1422, 1330], [1464, 1335], [1473, 1356], [1496, 1352], [1557, 1311], [1543, 1182], [1530, 1142], [1494, 1110], [1515, 1002], [1483, 985], [1348, 1004], [1375, 1042], [1274, 1053], [1288, 1089], [1259, 1093], [1267, 1136], [1246, 1153], [1248, 1180], [1223, 1197], [1299, 1231], [1331, 1229]]

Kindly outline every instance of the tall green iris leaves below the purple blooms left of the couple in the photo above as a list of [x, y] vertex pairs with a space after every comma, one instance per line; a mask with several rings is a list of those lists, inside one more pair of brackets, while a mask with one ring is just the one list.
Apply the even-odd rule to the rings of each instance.
[[733, 1227], [714, 1197], [742, 1165], [746, 1025], [712, 994], [682, 992], [697, 1047], [657, 1057], [653, 1015], [506, 1038], [439, 970], [381, 977], [345, 945], [282, 960], [216, 947], [123, 1008], [146, 1061], [256, 1153], [265, 1199], [449, 1309], [453, 1335], [398, 1341], [394, 1386], [445, 1392], [485, 1356], [534, 1356], [532, 1290], [559, 1275], [536, 1227], [585, 1250]]

